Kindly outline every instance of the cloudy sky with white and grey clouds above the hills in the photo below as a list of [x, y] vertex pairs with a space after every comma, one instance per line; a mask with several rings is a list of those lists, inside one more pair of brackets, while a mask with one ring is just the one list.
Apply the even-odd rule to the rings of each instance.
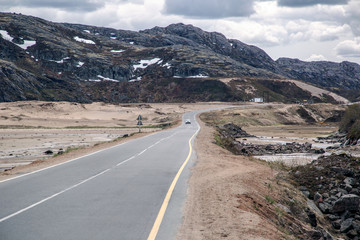
[[360, 64], [360, 0], [0, 0], [0, 11], [126, 30], [182, 22], [274, 60]]

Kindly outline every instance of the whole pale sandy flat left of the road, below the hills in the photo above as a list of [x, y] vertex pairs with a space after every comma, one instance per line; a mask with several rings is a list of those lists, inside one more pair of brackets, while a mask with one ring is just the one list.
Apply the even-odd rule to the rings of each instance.
[[[0, 103], [0, 179], [70, 160], [181, 120], [183, 113], [223, 103], [79, 104]], [[142, 134], [137, 118], [142, 116]], [[120, 139], [124, 135], [136, 136]], [[120, 140], [119, 140], [120, 139]], [[116, 141], [116, 142], [113, 142]], [[57, 156], [61, 151], [71, 151]], [[76, 150], [76, 151], [73, 151]], [[52, 151], [52, 154], [45, 154]], [[14, 168], [15, 167], [15, 168]], [[14, 169], [13, 169], [14, 168]], [[9, 171], [9, 169], [13, 169]], [[6, 170], [6, 172], [4, 172]]]

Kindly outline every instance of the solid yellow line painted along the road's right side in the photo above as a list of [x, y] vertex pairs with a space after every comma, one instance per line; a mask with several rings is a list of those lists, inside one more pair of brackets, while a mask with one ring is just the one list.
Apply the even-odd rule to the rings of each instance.
[[[199, 131], [199, 130], [198, 130], [198, 131]], [[197, 133], [198, 131], [196, 131], [196, 133]], [[160, 228], [161, 222], [162, 222], [162, 220], [163, 220], [163, 218], [164, 218], [165, 211], [166, 211], [166, 209], [167, 209], [167, 207], [168, 207], [168, 205], [169, 205], [169, 201], [170, 201], [171, 195], [172, 195], [172, 193], [173, 193], [173, 191], [174, 191], [175, 185], [176, 185], [177, 181], [179, 180], [179, 177], [180, 177], [182, 171], [184, 170], [186, 164], [187, 164], [188, 161], [190, 160], [191, 153], [192, 153], [191, 141], [192, 141], [192, 139], [194, 138], [194, 136], [196, 135], [196, 133], [194, 133], [194, 135], [192, 135], [192, 137], [191, 137], [190, 140], [189, 140], [189, 147], [190, 147], [189, 154], [188, 154], [186, 160], [184, 161], [184, 163], [181, 165], [179, 171], [177, 172], [174, 180], [172, 181], [172, 183], [171, 183], [171, 185], [170, 185], [170, 188], [169, 188], [168, 192], [166, 193], [165, 199], [164, 199], [164, 201], [163, 201], [163, 203], [162, 203], [162, 205], [161, 205], [160, 211], [159, 211], [159, 213], [158, 213], [158, 215], [157, 215], [157, 217], [156, 217], [156, 220], [155, 220], [155, 222], [154, 222], [154, 225], [153, 225], [153, 227], [152, 227], [152, 229], [151, 229], [151, 232], [150, 232], [149, 237], [147, 238], [147, 240], [155, 240], [156, 235], [157, 235], [158, 232], [159, 232], [159, 228]]]

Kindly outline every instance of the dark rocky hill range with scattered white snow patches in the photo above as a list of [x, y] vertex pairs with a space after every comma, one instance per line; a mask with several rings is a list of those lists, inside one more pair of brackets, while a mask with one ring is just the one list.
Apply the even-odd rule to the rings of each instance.
[[0, 101], [335, 101], [287, 79], [360, 90], [357, 64], [274, 61], [192, 25], [135, 32], [0, 13], [0, 34]]

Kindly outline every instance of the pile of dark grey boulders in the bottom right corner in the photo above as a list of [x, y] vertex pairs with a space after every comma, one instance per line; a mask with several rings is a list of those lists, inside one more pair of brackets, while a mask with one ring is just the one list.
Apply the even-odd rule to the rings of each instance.
[[321, 157], [292, 171], [299, 189], [315, 202], [346, 239], [360, 237], [360, 160], [345, 154]]

